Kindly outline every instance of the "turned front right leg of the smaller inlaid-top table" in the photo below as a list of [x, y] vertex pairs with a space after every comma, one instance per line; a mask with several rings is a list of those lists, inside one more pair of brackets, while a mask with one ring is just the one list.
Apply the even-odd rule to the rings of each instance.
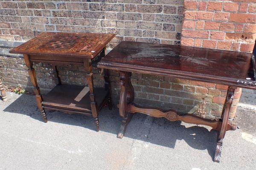
[[92, 110], [93, 119], [96, 125], [96, 131], [99, 131], [99, 111], [98, 111], [98, 105], [96, 102], [95, 94], [94, 94], [94, 88], [93, 88], [93, 73], [92, 73], [92, 61], [91, 59], [85, 59], [84, 60], [84, 68], [87, 71], [86, 79], [88, 82], [88, 86], [90, 89], [90, 105]]

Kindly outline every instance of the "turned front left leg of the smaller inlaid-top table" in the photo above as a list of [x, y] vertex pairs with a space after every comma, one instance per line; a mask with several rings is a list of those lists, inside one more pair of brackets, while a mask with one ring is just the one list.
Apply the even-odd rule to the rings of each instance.
[[42, 101], [43, 101], [43, 98], [42, 98], [42, 95], [40, 93], [40, 88], [38, 87], [38, 83], [37, 83], [36, 76], [35, 76], [35, 69], [33, 68], [33, 63], [29, 60], [29, 55], [24, 54], [23, 56], [24, 56], [26, 66], [28, 67], [30, 80], [32, 82], [32, 85], [34, 86], [33, 91], [35, 93], [35, 99], [36, 99], [38, 108], [41, 111], [44, 122], [47, 122], [46, 113], [45, 113], [44, 108], [42, 107], [42, 104], [41, 104]]

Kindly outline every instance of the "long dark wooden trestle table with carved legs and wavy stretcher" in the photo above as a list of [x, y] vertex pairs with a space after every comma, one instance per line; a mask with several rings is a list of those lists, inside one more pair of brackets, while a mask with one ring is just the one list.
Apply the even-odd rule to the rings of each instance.
[[[253, 55], [235, 51], [123, 41], [98, 63], [98, 67], [120, 71], [119, 114], [123, 120], [118, 138], [123, 137], [132, 113], [137, 112], [164, 117], [169, 121], [180, 120], [207, 125], [218, 130], [214, 159], [216, 162], [220, 161], [225, 132], [236, 130], [236, 125], [229, 122], [235, 89], [238, 87], [256, 89]], [[180, 114], [174, 110], [163, 112], [159, 109], [135, 105], [131, 72], [228, 85], [221, 119], [209, 120], [192, 114]]]

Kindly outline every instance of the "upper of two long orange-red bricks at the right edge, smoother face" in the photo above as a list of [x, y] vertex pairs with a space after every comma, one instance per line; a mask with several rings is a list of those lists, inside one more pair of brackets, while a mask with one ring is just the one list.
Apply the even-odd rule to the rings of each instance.
[[256, 14], [231, 13], [229, 21], [237, 23], [256, 23]]

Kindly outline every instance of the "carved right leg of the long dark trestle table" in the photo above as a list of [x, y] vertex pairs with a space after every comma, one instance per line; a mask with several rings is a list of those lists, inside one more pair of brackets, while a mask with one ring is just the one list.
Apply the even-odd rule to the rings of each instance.
[[227, 89], [227, 96], [226, 96], [226, 100], [225, 100], [223, 110], [222, 110], [222, 115], [221, 115], [221, 124], [218, 127], [218, 139], [217, 139], [217, 146], [216, 146], [215, 156], [214, 156], [215, 162], [220, 162], [222, 143], [227, 130], [227, 125], [229, 123], [228, 118], [229, 118], [230, 107], [233, 102], [233, 95], [235, 90], [236, 90], [236, 87], [232, 87], [232, 86], [229, 86]]

